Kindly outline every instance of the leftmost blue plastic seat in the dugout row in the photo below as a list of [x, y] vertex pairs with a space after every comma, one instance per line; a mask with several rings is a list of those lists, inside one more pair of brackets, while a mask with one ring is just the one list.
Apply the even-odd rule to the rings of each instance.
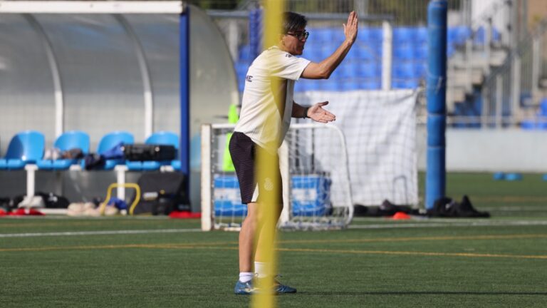
[[36, 130], [26, 130], [11, 138], [6, 156], [0, 160], [0, 169], [22, 169], [26, 164], [36, 163], [43, 157], [43, 134]]

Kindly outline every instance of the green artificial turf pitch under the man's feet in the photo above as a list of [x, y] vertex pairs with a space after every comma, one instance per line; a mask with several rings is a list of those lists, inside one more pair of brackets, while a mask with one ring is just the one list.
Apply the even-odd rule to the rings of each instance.
[[[281, 281], [298, 293], [277, 306], [547, 307], [547, 202], [533, 202], [547, 183], [536, 182], [450, 174], [447, 192], [490, 219], [281, 232]], [[249, 307], [232, 294], [237, 237], [167, 217], [0, 218], [0, 307]]]

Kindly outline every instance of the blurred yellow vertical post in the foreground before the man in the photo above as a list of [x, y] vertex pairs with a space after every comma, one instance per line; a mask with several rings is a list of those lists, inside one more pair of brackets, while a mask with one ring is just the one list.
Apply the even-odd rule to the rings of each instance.
[[[280, 39], [281, 26], [282, 26], [282, 14], [285, 8], [284, 0], [263, 0], [264, 14], [264, 49], [277, 45]], [[276, 89], [280, 86], [278, 78], [271, 78], [271, 88]], [[284, 103], [284, 101], [283, 101]], [[277, 143], [278, 144], [278, 143]], [[251, 299], [251, 307], [255, 308], [273, 308], [276, 307], [276, 298], [273, 294], [273, 275], [277, 272], [277, 249], [276, 249], [276, 211], [278, 210], [278, 204], [282, 202], [279, 200], [281, 192], [277, 191], [281, 188], [281, 178], [277, 176], [279, 164], [278, 161], [272, 161], [271, 156], [264, 153], [264, 151], [257, 151], [256, 163], [258, 164], [258, 180], [259, 185], [263, 185], [260, 191], [271, 190], [273, 193], [261, 193], [261, 204], [259, 204], [260, 215], [263, 217], [261, 221], [261, 227], [257, 228], [256, 235], [254, 236], [255, 242], [258, 241], [258, 247], [256, 250], [260, 251], [260, 255], [265, 265], [269, 268], [266, 272], [269, 273], [266, 279], [259, 279], [257, 281], [257, 287], [263, 290], [258, 294], [254, 294]], [[266, 187], [269, 186], [269, 187]], [[266, 291], [267, 290], [267, 291]], [[269, 292], [271, 291], [271, 292]]]

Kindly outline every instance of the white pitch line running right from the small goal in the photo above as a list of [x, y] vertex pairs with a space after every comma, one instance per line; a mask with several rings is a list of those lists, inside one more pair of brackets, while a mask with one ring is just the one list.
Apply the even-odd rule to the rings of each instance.
[[523, 225], [547, 225], [543, 220], [516, 220], [516, 221], [494, 221], [494, 222], [451, 222], [451, 223], [402, 223], [400, 225], [350, 225], [350, 229], [391, 229], [391, 228], [413, 228], [413, 227], [489, 227], [489, 226], [523, 226]]

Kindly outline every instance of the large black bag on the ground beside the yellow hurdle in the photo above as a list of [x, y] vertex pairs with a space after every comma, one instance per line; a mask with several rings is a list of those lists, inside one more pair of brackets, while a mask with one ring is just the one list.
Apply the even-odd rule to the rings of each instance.
[[143, 173], [137, 181], [141, 195], [133, 214], [168, 215], [174, 210], [189, 211], [186, 182], [182, 173]]

